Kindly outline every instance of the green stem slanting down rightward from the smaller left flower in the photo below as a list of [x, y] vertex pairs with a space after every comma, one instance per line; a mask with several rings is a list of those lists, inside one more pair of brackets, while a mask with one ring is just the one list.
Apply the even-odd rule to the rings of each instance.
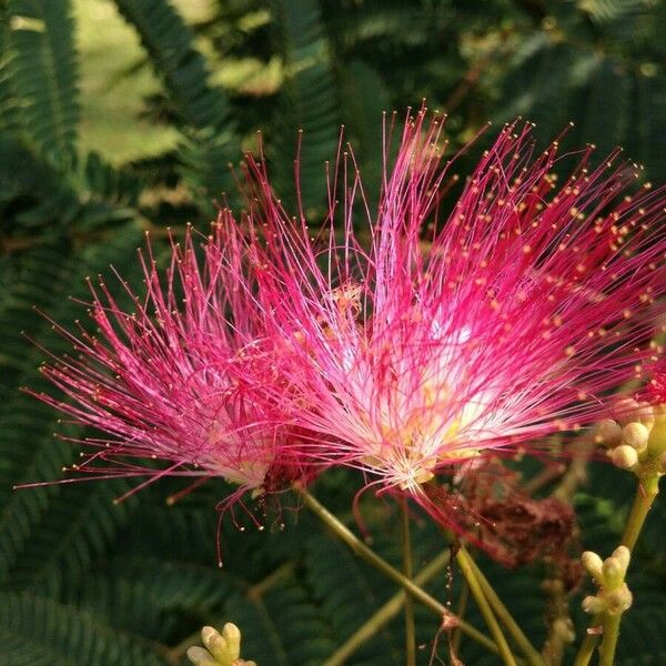
[[471, 624], [464, 622], [460, 617], [455, 616], [448, 608], [437, 602], [427, 592], [418, 587], [413, 581], [410, 581], [392, 567], [385, 559], [382, 559], [374, 551], [369, 548], [344, 523], [337, 519], [323, 504], [313, 497], [305, 488], [299, 484], [294, 484], [293, 488], [299, 493], [303, 500], [303, 503], [312, 513], [322, 521], [343, 543], [345, 543], [352, 552], [359, 557], [365, 559], [369, 564], [372, 564], [376, 569], [382, 572], [389, 578], [395, 581], [398, 585], [411, 594], [417, 602], [430, 608], [442, 620], [446, 620], [448, 624], [460, 626], [461, 630], [464, 632], [470, 638], [473, 638], [477, 643], [481, 643], [487, 649], [497, 653], [497, 646], [484, 636], [478, 629], [474, 628]]

